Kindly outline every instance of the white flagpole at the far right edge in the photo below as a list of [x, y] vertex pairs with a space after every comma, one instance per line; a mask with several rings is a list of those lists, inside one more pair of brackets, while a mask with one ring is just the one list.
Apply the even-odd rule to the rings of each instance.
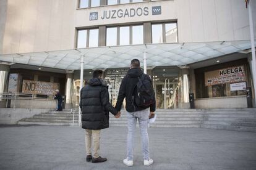
[[252, 79], [254, 80], [254, 98], [256, 100], [256, 59], [255, 59], [255, 45], [254, 45], [254, 23], [252, 20], [252, 1], [248, 3], [249, 8], [249, 24], [250, 24], [250, 44], [252, 48]]

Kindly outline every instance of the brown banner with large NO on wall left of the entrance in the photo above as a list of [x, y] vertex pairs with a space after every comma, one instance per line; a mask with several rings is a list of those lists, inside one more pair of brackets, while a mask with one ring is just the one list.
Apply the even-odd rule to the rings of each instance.
[[32, 94], [54, 94], [59, 89], [59, 83], [23, 80], [22, 92]]

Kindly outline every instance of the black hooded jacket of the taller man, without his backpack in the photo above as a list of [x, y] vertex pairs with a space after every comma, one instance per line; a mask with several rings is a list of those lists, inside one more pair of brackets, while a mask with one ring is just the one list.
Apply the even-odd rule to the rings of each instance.
[[[134, 103], [134, 89], [136, 84], [139, 81], [139, 76], [142, 76], [143, 72], [140, 68], [131, 68], [128, 70], [127, 75], [124, 76], [122, 79], [122, 83], [119, 89], [119, 94], [116, 102], [116, 109], [117, 111], [121, 110], [122, 107], [122, 101], [124, 100], [124, 97], [126, 97], [126, 110], [129, 112], [133, 111], [139, 111], [144, 110], [148, 107], [138, 107]], [[148, 79], [151, 82], [151, 79], [148, 75], [145, 75], [145, 79]], [[150, 111], [156, 110], [156, 103], [153, 103], [150, 105]]]

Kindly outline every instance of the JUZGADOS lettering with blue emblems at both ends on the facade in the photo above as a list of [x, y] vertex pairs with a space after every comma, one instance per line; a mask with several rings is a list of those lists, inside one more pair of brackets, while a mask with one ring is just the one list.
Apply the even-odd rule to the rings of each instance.
[[[129, 18], [129, 17], [140, 17], [147, 16], [150, 14], [148, 7], [137, 7], [129, 9], [118, 9], [118, 10], [104, 10], [99, 16], [99, 12], [90, 12], [90, 20], [101, 20], [114, 19], [114, 18]], [[153, 6], [151, 9], [152, 15], [161, 15], [161, 6]]]

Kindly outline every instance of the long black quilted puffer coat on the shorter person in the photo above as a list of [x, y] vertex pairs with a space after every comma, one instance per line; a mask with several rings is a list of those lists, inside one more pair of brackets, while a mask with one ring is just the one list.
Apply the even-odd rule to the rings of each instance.
[[109, 111], [117, 110], [109, 103], [108, 89], [103, 79], [92, 78], [80, 92], [83, 129], [105, 129], [109, 127]]

